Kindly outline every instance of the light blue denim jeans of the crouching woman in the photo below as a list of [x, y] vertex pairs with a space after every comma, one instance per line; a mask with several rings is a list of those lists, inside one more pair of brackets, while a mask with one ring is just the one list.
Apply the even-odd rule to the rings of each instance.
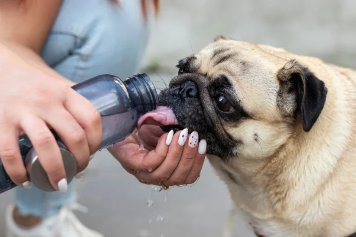
[[[152, 17], [145, 22], [140, 0], [64, 0], [41, 52], [54, 70], [81, 82], [100, 74], [122, 79], [136, 74], [146, 51]], [[56, 214], [74, 199], [75, 181], [66, 194], [36, 187], [17, 188], [16, 205], [25, 214]]]

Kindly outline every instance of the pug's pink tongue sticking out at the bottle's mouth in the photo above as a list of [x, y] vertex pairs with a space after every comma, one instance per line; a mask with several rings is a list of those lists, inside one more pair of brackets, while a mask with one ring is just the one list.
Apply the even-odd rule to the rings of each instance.
[[158, 106], [156, 110], [145, 113], [139, 118], [137, 127], [140, 128], [144, 124], [168, 126], [178, 125], [178, 121], [172, 109], [166, 106]]

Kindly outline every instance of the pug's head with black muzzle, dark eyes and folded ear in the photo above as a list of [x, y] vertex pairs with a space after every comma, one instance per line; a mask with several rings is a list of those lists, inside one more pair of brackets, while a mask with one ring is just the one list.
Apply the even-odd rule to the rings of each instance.
[[327, 93], [297, 61], [224, 38], [182, 59], [178, 68], [160, 105], [172, 108], [179, 123], [174, 129], [197, 131], [207, 140], [207, 153], [224, 161], [271, 157], [296, 131], [313, 127]]

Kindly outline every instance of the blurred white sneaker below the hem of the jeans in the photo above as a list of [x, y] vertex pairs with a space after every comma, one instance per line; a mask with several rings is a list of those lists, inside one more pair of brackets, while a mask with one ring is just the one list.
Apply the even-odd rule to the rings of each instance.
[[84, 226], [73, 213], [73, 209], [83, 209], [79, 204], [63, 207], [58, 214], [44, 218], [33, 228], [21, 228], [13, 218], [15, 205], [6, 212], [6, 237], [104, 237], [99, 232]]

